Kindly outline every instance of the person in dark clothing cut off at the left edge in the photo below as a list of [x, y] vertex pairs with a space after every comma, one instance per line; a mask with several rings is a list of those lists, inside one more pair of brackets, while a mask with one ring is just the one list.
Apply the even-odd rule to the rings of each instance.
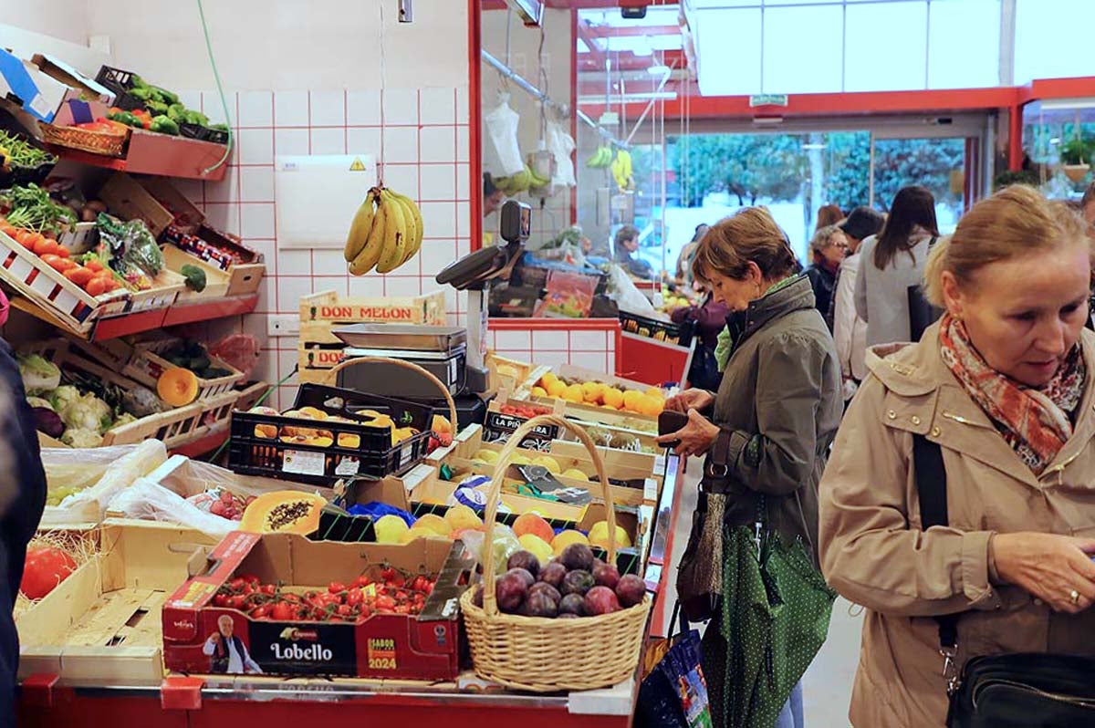
[[[7, 317], [4, 312], [3, 317]], [[2, 323], [2, 322], [0, 322]], [[26, 545], [46, 505], [38, 434], [19, 366], [0, 340], [0, 728], [15, 725], [19, 634], [12, 611], [23, 578]]]

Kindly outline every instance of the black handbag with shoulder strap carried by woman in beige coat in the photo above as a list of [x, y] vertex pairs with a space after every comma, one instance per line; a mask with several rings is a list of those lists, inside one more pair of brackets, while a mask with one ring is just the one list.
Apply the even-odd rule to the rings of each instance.
[[[946, 525], [947, 473], [937, 442], [912, 440], [920, 518], [926, 531]], [[1095, 726], [1095, 658], [1052, 652], [1005, 652], [969, 659], [955, 674], [960, 614], [935, 617], [948, 678], [949, 728], [1071, 728]]]

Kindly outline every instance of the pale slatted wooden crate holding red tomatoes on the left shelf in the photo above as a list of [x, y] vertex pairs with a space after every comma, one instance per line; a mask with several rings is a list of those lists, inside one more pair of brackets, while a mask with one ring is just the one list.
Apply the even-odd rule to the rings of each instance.
[[126, 312], [129, 291], [93, 297], [2, 232], [0, 255], [0, 280], [73, 332], [88, 333], [96, 320]]

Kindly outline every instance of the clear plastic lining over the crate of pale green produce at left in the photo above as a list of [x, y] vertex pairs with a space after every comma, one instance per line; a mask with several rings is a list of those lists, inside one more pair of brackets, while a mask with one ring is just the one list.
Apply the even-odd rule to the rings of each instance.
[[114, 496], [166, 460], [168, 449], [160, 440], [89, 450], [44, 448], [42, 464], [48, 497], [67, 495], [58, 505], [46, 506], [42, 523], [101, 521]]

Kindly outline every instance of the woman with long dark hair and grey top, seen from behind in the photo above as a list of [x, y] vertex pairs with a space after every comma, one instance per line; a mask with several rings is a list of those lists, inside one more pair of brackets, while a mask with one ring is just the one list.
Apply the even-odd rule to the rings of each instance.
[[932, 193], [899, 189], [881, 232], [863, 241], [855, 310], [867, 322], [867, 346], [909, 340], [909, 288], [923, 280], [927, 251], [938, 236]]

